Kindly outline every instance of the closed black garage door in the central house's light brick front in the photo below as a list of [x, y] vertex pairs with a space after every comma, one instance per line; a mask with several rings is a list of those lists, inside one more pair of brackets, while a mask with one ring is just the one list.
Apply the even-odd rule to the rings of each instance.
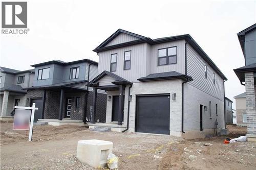
[[169, 119], [169, 94], [137, 96], [136, 132], [169, 134]]

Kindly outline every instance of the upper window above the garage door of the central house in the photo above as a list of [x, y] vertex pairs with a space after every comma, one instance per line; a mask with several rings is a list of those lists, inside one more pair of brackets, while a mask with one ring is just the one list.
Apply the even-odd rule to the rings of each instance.
[[158, 49], [158, 65], [176, 64], [177, 46]]

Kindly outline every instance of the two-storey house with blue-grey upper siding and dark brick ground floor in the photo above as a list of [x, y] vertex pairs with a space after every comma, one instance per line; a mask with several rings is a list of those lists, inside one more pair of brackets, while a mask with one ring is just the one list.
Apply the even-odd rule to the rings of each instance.
[[[89, 59], [63, 62], [49, 61], [35, 67], [33, 86], [27, 88], [27, 105], [36, 104], [39, 110], [35, 122], [52, 125], [80, 124], [90, 119], [92, 91], [87, 83], [97, 76], [98, 63]], [[98, 91], [97, 122], [105, 122], [106, 94]], [[63, 120], [62, 120], [63, 119]]]

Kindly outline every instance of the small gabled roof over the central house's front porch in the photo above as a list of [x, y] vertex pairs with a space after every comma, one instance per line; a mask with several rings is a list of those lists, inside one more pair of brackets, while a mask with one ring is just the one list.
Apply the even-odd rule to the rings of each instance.
[[[110, 76], [112, 78], [115, 79], [115, 81], [113, 82], [110, 82], [112, 83], [113, 85], [106, 85], [106, 86], [99, 86], [99, 82], [100, 79], [102, 79], [103, 77], [105, 76]], [[110, 71], [103, 71], [101, 72], [101, 74], [99, 74], [96, 78], [94, 78], [91, 82], [88, 83], [88, 86], [89, 87], [97, 87], [99, 89], [103, 89], [103, 90], [106, 90], [106, 89], [109, 89], [109, 90], [116, 90], [119, 88], [118, 85], [131, 85], [133, 84], [132, 82], [120, 77], [120, 76], [117, 76], [116, 74], [114, 74], [113, 72], [110, 72]]]

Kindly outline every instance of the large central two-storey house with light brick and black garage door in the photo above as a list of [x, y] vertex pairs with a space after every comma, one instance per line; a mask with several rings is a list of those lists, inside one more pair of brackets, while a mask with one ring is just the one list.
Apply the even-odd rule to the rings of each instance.
[[[89, 86], [106, 90], [105, 124], [90, 128], [168, 134], [213, 134], [224, 123], [226, 77], [190, 35], [151, 39], [117, 30], [93, 50], [99, 75]], [[94, 95], [94, 101], [96, 101]]]

